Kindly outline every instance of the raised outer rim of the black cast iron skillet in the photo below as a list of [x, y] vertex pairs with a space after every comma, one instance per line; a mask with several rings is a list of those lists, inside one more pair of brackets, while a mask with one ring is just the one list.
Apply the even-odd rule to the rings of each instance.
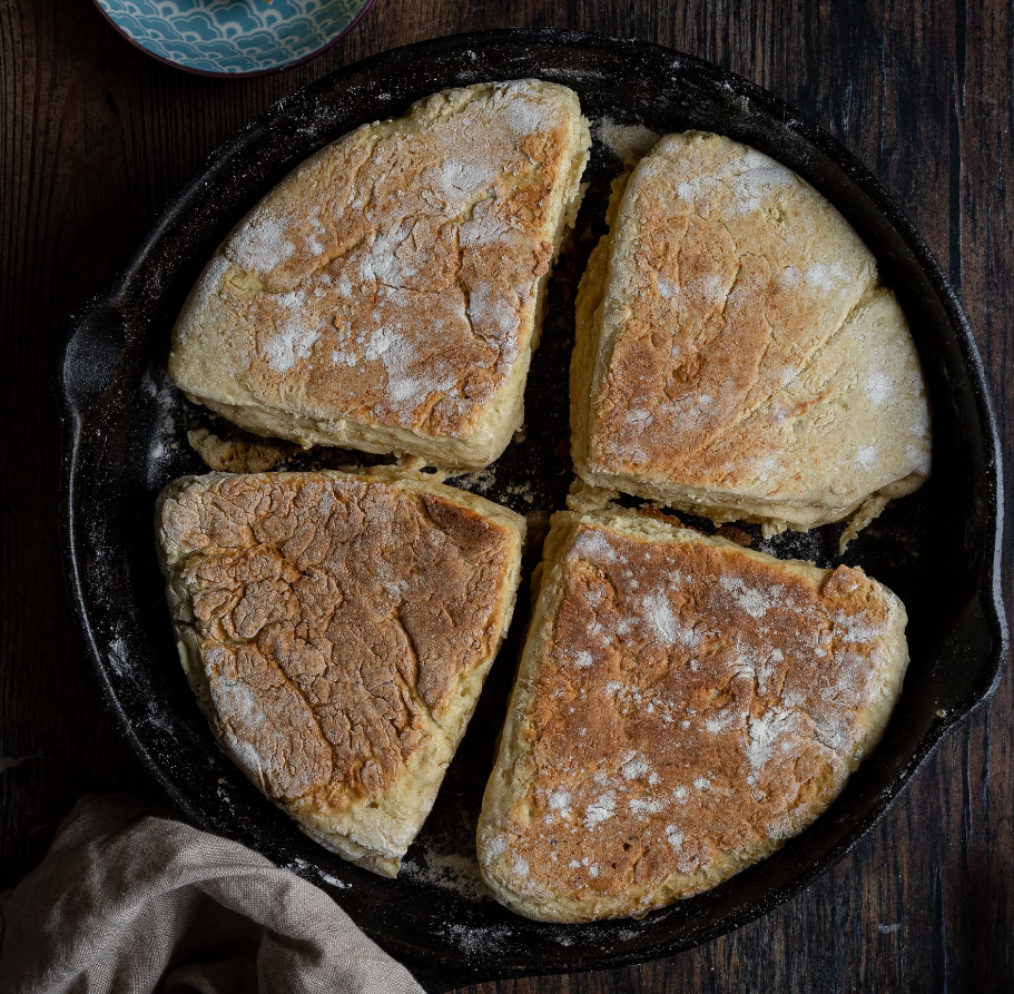
[[[77, 475], [82, 442], [81, 429], [86, 416], [86, 413], [80, 410], [82, 404], [76, 397], [75, 390], [77, 346], [82, 339], [87, 339], [91, 326], [100, 325], [102, 322], [118, 322], [126, 329], [128, 318], [125, 312], [129, 307], [132, 284], [142, 272], [148, 257], [158, 249], [163, 239], [171, 233], [179, 215], [186, 210], [188, 201], [194, 198], [200, 187], [214, 181], [215, 175], [224, 169], [234, 156], [242, 154], [245, 147], [254, 141], [266, 128], [291, 115], [294, 106], [312, 104], [315, 98], [332, 89], [336, 83], [346, 82], [375, 70], [385, 68], [390, 70], [405, 58], [411, 58], [413, 53], [425, 52], [427, 57], [432, 57], [441, 52], [449, 53], [504, 45], [518, 46], [525, 42], [539, 46], [606, 50], [611, 53], [639, 57], [644, 61], [661, 59], [673, 70], [690, 71], [713, 85], [726, 87], [735, 96], [759, 107], [761, 112], [768, 117], [776, 120], [780, 119], [785, 127], [796, 132], [804, 141], [815, 147], [818, 152], [847, 174], [849, 179], [856, 183], [890, 227], [902, 237], [944, 307], [947, 324], [961, 353], [975, 401], [977, 427], [983, 442], [982, 457], [986, 470], [984, 483], [988, 495], [984, 530], [992, 538], [992, 555], [987, 554], [984, 558], [982, 584], [977, 591], [975, 602], [979, 607], [988, 628], [993, 651], [988, 658], [983, 660], [979, 667], [982, 675], [979, 682], [986, 683], [981, 692], [973, 693], [967, 698], [963, 707], [948, 711], [945, 717], [938, 718], [926, 731], [918, 748], [905, 762], [895, 779], [880, 791], [870, 805], [862, 823], [820, 858], [801, 869], [788, 883], [774, 887], [760, 899], [726, 917], [720, 917], [710, 926], [701, 927], [697, 931], [689, 929], [681, 938], [661, 941], [647, 949], [627, 953], [613, 949], [602, 952], [600, 955], [584, 955], [574, 958], [561, 956], [559, 962], [536, 967], [525, 967], [523, 965], [495, 968], [472, 967], [451, 956], [434, 957], [424, 955], [420, 959], [416, 955], [413, 955], [412, 947], [393, 942], [390, 936], [373, 936], [385, 945], [388, 951], [392, 951], [394, 955], [407, 961], [413, 972], [416, 972], [420, 978], [432, 990], [446, 990], [449, 984], [455, 985], [482, 980], [561, 971], [600, 970], [647, 962], [700, 945], [767, 914], [789, 897], [809, 887], [818, 876], [826, 873], [867, 836], [869, 830], [893, 807], [904, 788], [933, 755], [946, 735], [956, 726], [967, 721], [975, 711], [993, 697], [1003, 678], [1010, 651], [1001, 584], [1004, 523], [1002, 450], [983, 361], [956, 292], [948, 283], [925, 239], [886, 191], [882, 183], [845, 146], [833, 138], [807, 115], [790, 107], [758, 85], [695, 56], [640, 39], [617, 38], [608, 35], [558, 28], [509, 28], [452, 35], [390, 49], [353, 62], [311, 82], [287, 97], [283, 97], [268, 107], [211, 152], [190, 179], [167, 203], [148, 235], [121, 273], [110, 282], [105, 291], [96, 294], [88, 303], [76, 311], [68, 321], [67, 341], [60, 354], [56, 384], [60, 401], [61, 420], [60, 531], [65, 575], [75, 616], [85, 637], [88, 655], [101, 683], [106, 705], [114, 713], [121, 732], [129, 741], [131, 748], [141, 759], [149, 774], [155, 777], [173, 800], [174, 805], [189, 821], [207, 828], [208, 820], [201, 814], [199, 806], [191, 803], [177, 783], [163, 770], [159, 761], [138, 737], [135, 728], [136, 722], [127, 715], [121, 701], [112, 690], [106, 670], [107, 663], [99, 650], [96, 632], [89, 618], [83, 567], [76, 548], [76, 538], [82, 528], [82, 522], [79, 520], [76, 484], [78, 482]], [[85, 344], [87, 345], [87, 341]], [[115, 382], [116, 376], [114, 374], [104, 390], [115, 385]], [[312, 875], [311, 878], [314, 883], [321, 883], [316, 876]], [[560, 952], [564, 953], [565, 948], [561, 947]]]

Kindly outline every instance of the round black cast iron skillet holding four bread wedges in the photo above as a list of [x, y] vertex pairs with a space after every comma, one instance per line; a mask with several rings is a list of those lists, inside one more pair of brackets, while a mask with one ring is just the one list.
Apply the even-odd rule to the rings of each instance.
[[[825, 817], [778, 854], [640, 922], [536, 924], [493, 903], [475, 883], [474, 826], [523, 610], [405, 869], [386, 880], [305, 838], [215, 748], [176, 658], [155, 558], [156, 494], [173, 478], [203, 469], [186, 430], [209, 416], [173, 390], [165, 362], [183, 298], [215, 246], [292, 166], [353, 127], [401, 114], [445, 87], [522, 77], [577, 90], [600, 139], [616, 134], [610, 122], [720, 131], [804, 176], [876, 254], [909, 317], [933, 400], [933, 480], [889, 509], [844, 557], [908, 606], [912, 665], [884, 741]], [[602, 230], [609, 181], [619, 169], [613, 151], [597, 140], [578, 224], [583, 237], [552, 283], [524, 437], [491, 472], [463, 483], [532, 514], [536, 524], [539, 512], [562, 506], [570, 481], [564, 443], [573, 288]], [[328, 888], [434, 991], [642, 961], [764, 914], [858, 842], [944, 734], [988, 699], [1006, 658], [996, 429], [981, 360], [939, 266], [877, 180], [820, 128], [756, 86], [657, 46], [555, 30], [462, 36], [358, 62], [282, 100], [211, 156], [124, 275], [73, 317], [60, 392], [67, 573], [125, 735], [185, 817]], [[841, 561], [839, 532], [828, 526], [755, 548], [828, 565]]]

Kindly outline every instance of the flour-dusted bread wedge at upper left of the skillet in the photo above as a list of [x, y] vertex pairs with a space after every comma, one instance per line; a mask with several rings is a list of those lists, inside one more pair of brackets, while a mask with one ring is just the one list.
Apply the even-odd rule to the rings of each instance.
[[478, 469], [520, 426], [590, 145], [538, 80], [436, 94], [307, 159], [229, 235], [169, 373], [263, 435]]

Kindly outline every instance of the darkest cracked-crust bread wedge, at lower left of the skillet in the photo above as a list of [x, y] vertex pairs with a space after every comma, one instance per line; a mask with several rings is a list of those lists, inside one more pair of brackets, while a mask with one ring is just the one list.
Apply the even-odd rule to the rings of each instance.
[[187, 476], [156, 528], [225, 751], [321, 845], [394, 876], [510, 623], [523, 519], [377, 469]]

